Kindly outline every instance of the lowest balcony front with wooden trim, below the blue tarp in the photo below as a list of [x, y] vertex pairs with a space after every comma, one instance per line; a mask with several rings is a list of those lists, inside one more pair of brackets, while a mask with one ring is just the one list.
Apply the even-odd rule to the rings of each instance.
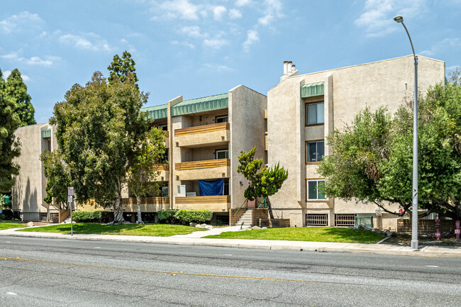
[[228, 211], [230, 208], [230, 196], [188, 196], [174, 198], [175, 209], [201, 209], [214, 212]]

